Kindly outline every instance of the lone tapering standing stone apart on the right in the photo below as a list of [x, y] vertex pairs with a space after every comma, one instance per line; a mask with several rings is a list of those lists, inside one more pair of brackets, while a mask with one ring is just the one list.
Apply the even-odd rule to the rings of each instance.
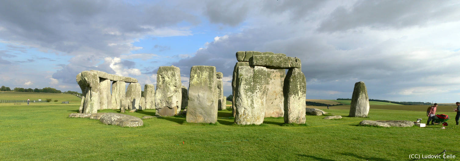
[[368, 90], [364, 82], [356, 82], [351, 96], [350, 117], [368, 117], [369, 114], [369, 97]]

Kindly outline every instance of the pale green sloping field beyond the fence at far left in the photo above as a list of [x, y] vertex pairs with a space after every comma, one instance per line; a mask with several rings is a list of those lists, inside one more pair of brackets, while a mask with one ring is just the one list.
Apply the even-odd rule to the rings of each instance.
[[69, 101], [80, 104], [81, 102], [81, 98], [71, 94], [0, 91], [0, 100], [46, 100], [47, 98], [51, 98], [52, 102], [57, 100], [58, 103]]

